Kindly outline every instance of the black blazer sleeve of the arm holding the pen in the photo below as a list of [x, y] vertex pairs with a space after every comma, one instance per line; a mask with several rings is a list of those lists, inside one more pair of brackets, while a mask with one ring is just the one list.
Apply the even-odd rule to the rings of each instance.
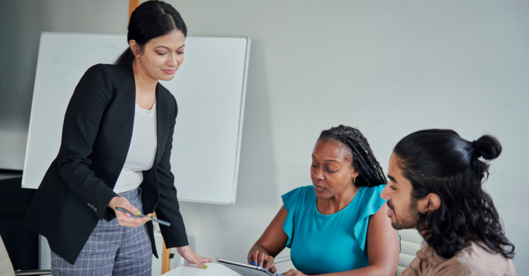
[[112, 72], [105, 65], [88, 69], [77, 84], [64, 116], [61, 148], [56, 158], [68, 187], [94, 210], [101, 220], [116, 193], [90, 169], [92, 146], [101, 118], [112, 98]]

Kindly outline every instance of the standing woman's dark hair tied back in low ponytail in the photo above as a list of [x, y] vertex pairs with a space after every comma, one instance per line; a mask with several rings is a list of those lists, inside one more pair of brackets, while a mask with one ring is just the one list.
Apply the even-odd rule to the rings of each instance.
[[[130, 16], [127, 41], [135, 40], [143, 51], [143, 46], [151, 39], [169, 34], [175, 29], [187, 36], [184, 19], [173, 6], [163, 1], [146, 1], [138, 6]], [[133, 61], [134, 54], [128, 47], [114, 64], [132, 66]]]

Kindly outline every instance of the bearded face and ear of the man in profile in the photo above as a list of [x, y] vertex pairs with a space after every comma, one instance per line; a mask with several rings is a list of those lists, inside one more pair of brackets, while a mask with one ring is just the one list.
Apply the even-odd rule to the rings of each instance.
[[[388, 217], [394, 229], [416, 229], [419, 222], [419, 213], [435, 211], [441, 204], [441, 199], [435, 193], [428, 193], [426, 197], [414, 199], [412, 197], [413, 187], [410, 180], [404, 177], [400, 167], [400, 160], [395, 153], [391, 154], [389, 160], [388, 178], [389, 182], [380, 195], [389, 209]], [[422, 210], [422, 212], [420, 211]]]

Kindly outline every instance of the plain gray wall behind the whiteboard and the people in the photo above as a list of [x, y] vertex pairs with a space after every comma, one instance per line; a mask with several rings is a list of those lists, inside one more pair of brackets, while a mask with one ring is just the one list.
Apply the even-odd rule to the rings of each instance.
[[[1, 2], [0, 109], [16, 107], [0, 121], [27, 125], [39, 32], [125, 32], [127, 2]], [[529, 274], [529, 1], [169, 3], [190, 35], [252, 38], [236, 206], [181, 203], [198, 253], [244, 262], [280, 195], [311, 184], [322, 129], [360, 128], [386, 168], [398, 140], [435, 127], [502, 142], [485, 187]]]

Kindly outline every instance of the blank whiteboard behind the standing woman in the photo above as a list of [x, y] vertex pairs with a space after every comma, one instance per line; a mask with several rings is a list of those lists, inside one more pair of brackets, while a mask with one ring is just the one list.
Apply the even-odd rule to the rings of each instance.
[[[125, 34], [41, 34], [23, 188], [37, 189], [56, 158], [81, 76], [127, 46]], [[178, 103], [171, 156], [178, 200], [235, 204], [249, 51], [249, 37], [188, 36], [174, 79], [160, 82]]]

